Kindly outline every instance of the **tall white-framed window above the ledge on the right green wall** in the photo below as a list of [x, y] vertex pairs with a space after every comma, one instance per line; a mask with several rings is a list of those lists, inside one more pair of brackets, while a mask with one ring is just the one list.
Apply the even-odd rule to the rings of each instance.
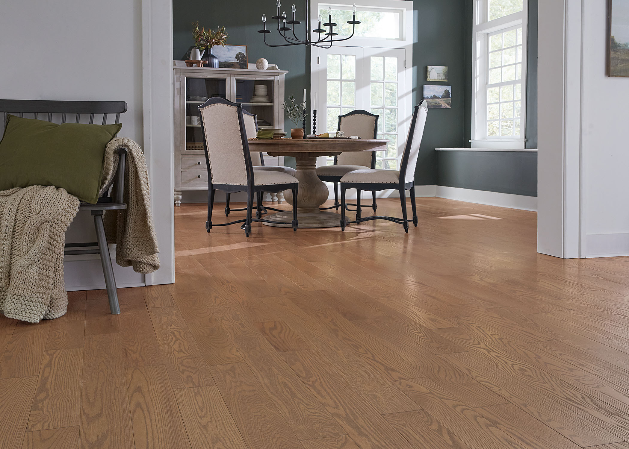
[[526, 0], [474, 2], [472, 148], [524, 148]]

